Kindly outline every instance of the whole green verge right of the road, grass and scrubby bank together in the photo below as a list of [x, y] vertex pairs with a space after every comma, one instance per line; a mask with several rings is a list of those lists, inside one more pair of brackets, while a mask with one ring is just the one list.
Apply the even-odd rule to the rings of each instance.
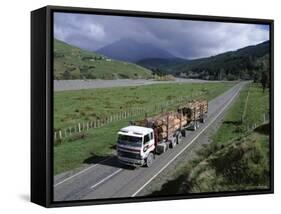
[[180, 164], [172, 179], [151, 195], [268, 189], [269, 124], [246, 129], [249, 123], [262, 122], [262, 115], [268, 109], [268, 90], [263, 93], [262, 88], [253, 83], [244, 88], [212, 143], [203, 144], [196, 157]]

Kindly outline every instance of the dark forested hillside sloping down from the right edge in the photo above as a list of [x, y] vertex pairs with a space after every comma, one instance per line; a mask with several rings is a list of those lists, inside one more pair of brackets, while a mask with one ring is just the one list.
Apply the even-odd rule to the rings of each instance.
[[177, 72], [203, 79], [260, 79], [262, 72], [269, 72], [269, 42], [192, 60]]

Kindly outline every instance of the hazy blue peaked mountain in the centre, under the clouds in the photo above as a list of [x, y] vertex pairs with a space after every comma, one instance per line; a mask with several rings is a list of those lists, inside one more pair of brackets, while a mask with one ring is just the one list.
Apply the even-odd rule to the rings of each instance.
[[97, 53], [116, 60], [137, 62], [145, 58], [176, 58], [166, 50], [152, 44], [125, 38], [96, 50]]

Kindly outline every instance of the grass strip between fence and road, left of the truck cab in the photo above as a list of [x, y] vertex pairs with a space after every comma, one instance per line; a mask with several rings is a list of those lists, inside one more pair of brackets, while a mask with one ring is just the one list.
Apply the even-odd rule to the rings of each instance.
[[98, 129], [89, 129], [75, 140], [65, 139], [54, 147], [54, 174], [115, 155], [117, 132], [126, 125], [126, 120], [116, 121]]

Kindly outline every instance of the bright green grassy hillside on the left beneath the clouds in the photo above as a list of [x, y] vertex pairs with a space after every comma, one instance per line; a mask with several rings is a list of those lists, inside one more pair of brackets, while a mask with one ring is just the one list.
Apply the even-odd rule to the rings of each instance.
[[152, 78], [150, 70], [54, 40], [54, 79]]

